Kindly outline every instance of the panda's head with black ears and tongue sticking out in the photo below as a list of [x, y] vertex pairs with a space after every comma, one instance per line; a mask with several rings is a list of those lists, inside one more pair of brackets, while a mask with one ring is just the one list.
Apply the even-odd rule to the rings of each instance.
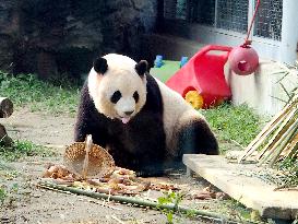
[[145, 105], [147, 62], [109, 54], [97, 58], [88, 75], [88, 91], [96, 109], [128, 123]]

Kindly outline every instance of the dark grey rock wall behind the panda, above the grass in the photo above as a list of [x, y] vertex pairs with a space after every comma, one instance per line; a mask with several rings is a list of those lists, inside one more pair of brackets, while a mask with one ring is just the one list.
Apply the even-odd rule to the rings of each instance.
[[0, 70], [41, 78], [87, 73], [95, 56], [134, 59], [156, 22], [157, 0], [1, 0]]

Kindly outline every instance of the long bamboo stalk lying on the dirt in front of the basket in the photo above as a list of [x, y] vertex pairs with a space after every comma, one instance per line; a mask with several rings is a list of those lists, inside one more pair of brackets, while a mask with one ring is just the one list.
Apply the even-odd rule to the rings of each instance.
[[[171, 211], [180, 211], [182, 213], [188, 213], [191, 212], [192, 214], [199, 215], [199, 216], [204, 216], [204, 217], [212, 217], [212, 219], [216, 219], [216, 220], [224, 220], [224, 221], [228, 221], [228, 222], [235, 222], [235, 223], [247, 223], [247, 224], [254, 224], [257, 222], [252, 222], [252, 221], [243, 221], [243, 220], [235, 220], [231, 217], [227, 217], [223, 214], [218, 214], [215, 212], [208, 212], [208, 211], [203, 211], [203, 210], [196, 210], [196, 209], [189, 209], [186, 207], [181, 207], [181, 205], [177, 205], [174, 203], [167, 203], [167, 204], [158, 204], [157, 202], [154, 201], [148, 201], [148, 200], [144, 200], [141, 198], [135, 198], [135, 197], [126, 197], [126, 196], [109, 196], [106, 193], [99, 193], [99, 192], [93, 192], [93, 191], [85, 191], [82, 189], [78, 189], [78, 188], [71, 188], [71, 187], [67, 187], [67, 186], [60, 186], [60, 185], [56, 185], [52, 182], [48, 182], [48, 181], [39, 181], [38, 184], [39, 187], [45, 188], [45, 189], [58, 189], [58, 190], [62, 190], [62, 191], [69, 191], [75, 194], [82, 194], [82, 196], [87, 196], [91, 198], [95, 198], [95, 199], [110, 199], [114, 201], [118, 201], [121, 203], [131, 203], [131, 204], [136, 204], [136, 205], [141, 205], [141, 207], [150, 207], [153, 209], [162, 209], [162, 210], [171, 210]], [[260, 222], [258, 222], [260, 223]]]

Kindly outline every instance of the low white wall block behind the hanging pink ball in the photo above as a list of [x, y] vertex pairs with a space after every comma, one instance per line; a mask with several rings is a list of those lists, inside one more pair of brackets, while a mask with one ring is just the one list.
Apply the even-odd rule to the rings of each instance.
[[[274, 61], [262, 60], [258, 71], [250, 75], [235, 74], [229, 71], [228, 64], [225, 71], [233, 93], [233, 103], [246, 103], [262, 115], [275, 115], [285, 106], [283, 101], [287, 101], [288, 96], [281, 83], [288, 92], [298, 86], [298, 71], [289, 70]], [[279, 81], [285, 75], [278, 73], [279, 71], [289, 73]]]

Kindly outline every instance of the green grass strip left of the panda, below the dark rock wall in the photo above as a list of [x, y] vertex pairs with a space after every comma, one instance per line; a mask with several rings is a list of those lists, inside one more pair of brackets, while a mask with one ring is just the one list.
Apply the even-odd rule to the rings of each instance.
[[32, 111], [75, 114], [79, 85], [63, 80], [58, 84], [40, 81], [33, 74], [14, 76], [0, 71], [1, 96], [9, 97], [14, 106], [27, 106]]

